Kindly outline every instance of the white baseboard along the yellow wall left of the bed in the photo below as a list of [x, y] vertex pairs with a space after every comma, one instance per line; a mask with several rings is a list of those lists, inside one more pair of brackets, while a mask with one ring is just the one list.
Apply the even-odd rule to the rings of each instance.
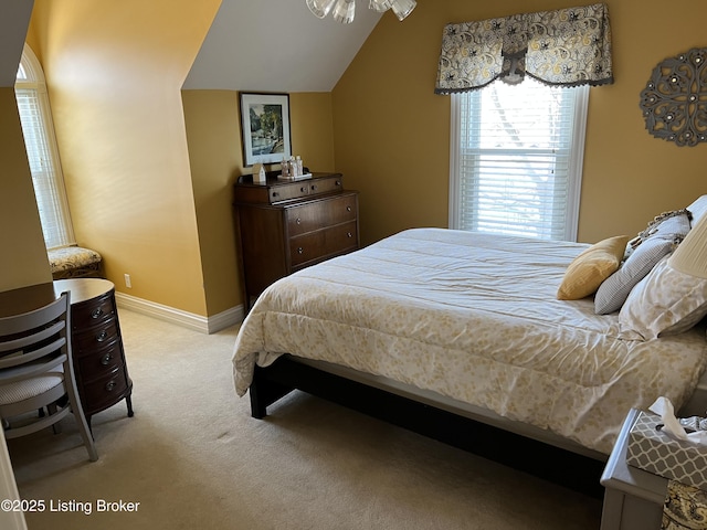
[[182, 311], [181, 309], [144, 300], [143, 298], [137, 298], [136, 296], [124, 293], [116, 293], [115, 300], [119, 308], [124, 307], [135, 312], [201, 331], [202, 333], [215, 333], [217, 331], [242, 322], [243, 318], [245, 318], [242, 305], [232, 307], [211, 317], [202, 317], [201, 315]]

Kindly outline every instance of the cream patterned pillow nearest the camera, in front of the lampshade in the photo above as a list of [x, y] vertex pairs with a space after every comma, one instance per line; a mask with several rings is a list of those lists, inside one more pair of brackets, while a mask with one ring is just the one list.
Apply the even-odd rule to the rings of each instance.
[[626, 338], [687, 331], [707, 315], [707, 279], [682, 273], [664, 257], [629, 294], [619, 324]]

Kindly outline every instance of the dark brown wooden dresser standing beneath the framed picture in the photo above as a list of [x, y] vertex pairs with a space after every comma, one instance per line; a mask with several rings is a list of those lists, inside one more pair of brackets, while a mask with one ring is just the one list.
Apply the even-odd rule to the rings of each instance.
[[288, 181], [250, 174], [234, 184], [245, 284], [245, 306], [276, 279], [359, 247], [358, 192], [341, 173]]

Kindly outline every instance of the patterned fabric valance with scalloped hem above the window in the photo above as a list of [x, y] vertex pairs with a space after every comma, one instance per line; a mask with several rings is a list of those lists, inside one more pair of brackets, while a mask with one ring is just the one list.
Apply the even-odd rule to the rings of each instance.
[[549, 85], [613, 83], [606, 4], [447, 24], [434, 92], [518, 83], [526, 73]]

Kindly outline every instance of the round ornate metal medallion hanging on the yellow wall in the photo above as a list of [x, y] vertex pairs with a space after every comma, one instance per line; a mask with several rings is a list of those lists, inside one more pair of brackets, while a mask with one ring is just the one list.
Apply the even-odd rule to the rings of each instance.
[[678, 146], [707, 141], [707, 49], [694, 47], [653, 70], [641, 93], [645, 127]]

